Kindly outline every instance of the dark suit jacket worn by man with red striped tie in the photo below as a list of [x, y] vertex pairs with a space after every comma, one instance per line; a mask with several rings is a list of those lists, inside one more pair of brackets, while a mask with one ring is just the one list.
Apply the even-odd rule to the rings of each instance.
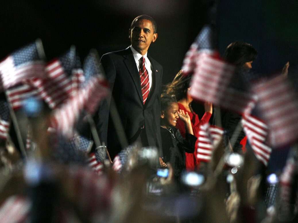
[[[138, 68], [129, 47], [122, 51], [104, 54], [100, 59], [100, 65], [105, 71], [128, 143], [136, 141], [145, 125], [149, 146], [156, 146], [162, 156], [160, 137], [162, 66], [148, 54], [147, 56], [151, 62], [152, 86], [145, 105]], [[107, 99], [100, 106], [97, 128], [101, 140], [107, 143], [108, 151], [111, 157], [114, 157], [121, 147], [109, 111], [110, 100]]]

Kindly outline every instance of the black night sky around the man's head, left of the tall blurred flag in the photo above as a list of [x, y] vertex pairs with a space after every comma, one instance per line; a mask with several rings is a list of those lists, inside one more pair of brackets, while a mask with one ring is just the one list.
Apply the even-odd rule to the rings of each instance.
[[[126, 4], [124, 4], [125, 2]], [[84, 58], [130, 45], [128, 29], [141, 14], [158, 24], [158, 40], [149, 52], [164, 67], [164, 82], [181, 69], [188, 47], [203, 26], [209, 1], [7, 1], [0, 7], [0, 59], [41, 38], [48, 60], [74, 44]]]

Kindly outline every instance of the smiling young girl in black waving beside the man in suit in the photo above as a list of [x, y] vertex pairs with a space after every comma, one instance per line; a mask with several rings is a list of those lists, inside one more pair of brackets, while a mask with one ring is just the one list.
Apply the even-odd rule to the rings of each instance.
[[[196, 137], [193, 136], [190, 116], [183, 110], [178, 110], [176, 98], [163, 94], [161, 96], [161, 114], [160, 131], [162, 137], [163, 158], [160, 163], [170, 162], [174, 170], [176, 180], [180, 179], [182, 170], [185, 169], [185, 152], [193, 153], [195, 150]], [[181, 119], [185, 125], [185, 139], [181, 136], [179, 130], [175, 128], [177, 120]]]

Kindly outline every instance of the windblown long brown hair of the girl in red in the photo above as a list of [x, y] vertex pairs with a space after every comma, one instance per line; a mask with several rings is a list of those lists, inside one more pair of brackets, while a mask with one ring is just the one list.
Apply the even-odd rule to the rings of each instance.
[[175, 95], [177, 101], [187, 97], [187, 89], [190, 84], [190, 75], [184, 76], [180, 70], [173, 81], [165, 86], [165, 93]]

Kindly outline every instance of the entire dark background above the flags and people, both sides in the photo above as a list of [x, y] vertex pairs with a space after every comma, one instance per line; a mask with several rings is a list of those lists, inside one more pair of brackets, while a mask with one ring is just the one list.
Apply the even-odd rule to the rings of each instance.
[[[138, 15], [157, 22], [158, 39], [149, 53], [164, 67], [163, 83], [181, 69], [190, 44], [207, 21], [213, 1], [123, 0], [34, 1], [0, 3], [0, 60], [17, 48], [41, 38], [48, 60], [76, 45], [81, 59], [91, 48], [100, 56], [128, 47], [128, 29]], [[282, 0], [219, 0], [218, 49], [242, 40], [258, 51], [253, 70], [280, 72], [289, 61], [296, 79], [298, 2]], [[197, 107], [201, 117], [203, 110]]]

